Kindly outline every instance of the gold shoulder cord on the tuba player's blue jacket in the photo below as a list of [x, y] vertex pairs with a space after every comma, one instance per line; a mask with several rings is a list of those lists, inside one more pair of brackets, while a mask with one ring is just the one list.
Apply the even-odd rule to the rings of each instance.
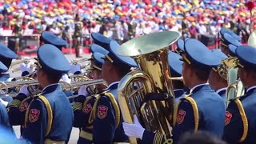
[[198, 123], [199, 123], [199, 114], [198, 114], [198, 106], [192, 97], [185, 98], [188, 102], [190, 102], [193, 113], [194, 113], [194, 133], [198, 131]]

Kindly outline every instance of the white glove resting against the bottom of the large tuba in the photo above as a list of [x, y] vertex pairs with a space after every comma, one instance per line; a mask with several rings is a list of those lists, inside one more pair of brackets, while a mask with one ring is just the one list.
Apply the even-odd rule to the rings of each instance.
[[138, 122], [138, 118], [137, 118], [136, 115], [134, 115], [134, 124], [122, 122], [122, 127], [123, 127], [123, 130], [125, 131], [125, 134], [128, 137], [134, 137], [134, 138], [142, 139], [145, 129]]

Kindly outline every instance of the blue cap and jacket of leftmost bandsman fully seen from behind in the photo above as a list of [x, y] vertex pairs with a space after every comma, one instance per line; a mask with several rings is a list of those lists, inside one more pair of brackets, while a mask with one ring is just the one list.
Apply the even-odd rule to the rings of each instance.
[[[70, 63], [55, 46], [38, 48], [39, 70], [65, 74]], [[32, 143], [67, 143], [73, 124], [70, 102], [60, 84], [50, 84], [34, 97], [26, 109], [22, 138]]]

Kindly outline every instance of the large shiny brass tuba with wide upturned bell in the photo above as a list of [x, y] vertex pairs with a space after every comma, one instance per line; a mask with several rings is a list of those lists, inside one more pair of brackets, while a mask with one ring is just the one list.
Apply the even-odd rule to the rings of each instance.
[[[134, 122], [136, 114], [146, 130], [170, 134], [174, 125], [174, 93], [168, 51], [179, 37], [178, 32], [157, 32], [133, 38], [118, 48], [119, 55], [134, 58], [140, 68], [126, 74], [118, 85], [118, 102], [125, 122]], [[146, 101], [149, 93], [166, 94], [170, 101]], [[129, 139], [130, 143], [137, 143], [136, 138]]]

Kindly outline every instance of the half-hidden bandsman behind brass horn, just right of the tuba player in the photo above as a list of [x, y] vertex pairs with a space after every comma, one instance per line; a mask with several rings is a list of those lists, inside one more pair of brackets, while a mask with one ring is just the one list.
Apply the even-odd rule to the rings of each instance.
[[[226, 59], [226, 54], [222, 53], [221, 50], [212, 50], [212, 53], [216, 55], [219, 62]], [[220, 65], [222, 66], [222, 64]], [[220, 70], [220, 66], [215, 66], [210, 71], [209, 83], [210, 87], [218, 93], [226, 103], [226, 87], [227, 87], [227, 73]]]

